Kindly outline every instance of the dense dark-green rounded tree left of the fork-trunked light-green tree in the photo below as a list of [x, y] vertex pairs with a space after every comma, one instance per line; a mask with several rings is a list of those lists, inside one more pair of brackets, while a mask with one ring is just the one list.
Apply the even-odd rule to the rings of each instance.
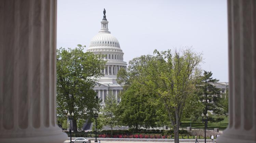
[[122, 93], [120, 103], [120, 122], [123, 125], [135, 128], [156, 127], [157, 107], [155, 97], [149, 93], [140, 83], [133, 81], [132, 85]]

